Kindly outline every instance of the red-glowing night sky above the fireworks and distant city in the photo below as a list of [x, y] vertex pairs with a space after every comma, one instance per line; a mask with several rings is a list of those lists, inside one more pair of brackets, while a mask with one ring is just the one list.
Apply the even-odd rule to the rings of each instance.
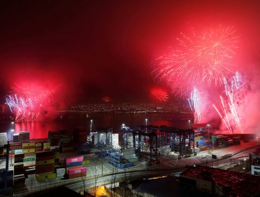
[[51, 84], [70, 103], [150, 101], [152, 56], [190, 27], [234, 26], [238, 65], [259, 63], [260, 1], [1, 1], [1, 101]]

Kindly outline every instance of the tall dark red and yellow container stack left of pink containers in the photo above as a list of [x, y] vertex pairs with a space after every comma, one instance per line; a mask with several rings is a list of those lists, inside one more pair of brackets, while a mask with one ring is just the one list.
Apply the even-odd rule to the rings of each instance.
[[51, 179], [55, 178], [56, 174], [54, 172], [54, 152], [46, 151], [36, 153], [35, 162], [35, 177], [36, 179]]

